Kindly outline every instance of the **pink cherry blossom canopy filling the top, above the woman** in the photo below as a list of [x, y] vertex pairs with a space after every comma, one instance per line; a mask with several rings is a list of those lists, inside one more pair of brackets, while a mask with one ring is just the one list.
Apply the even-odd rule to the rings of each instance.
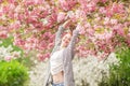
[[[130, 6], [123, 0], [0, 0], [0, 39], [48, 58], [65, 20], [80, 23], [76, 52], [106, 57], [123, 42], [130, 46]], [[68, 26], [69, 27], [69, 26]]]

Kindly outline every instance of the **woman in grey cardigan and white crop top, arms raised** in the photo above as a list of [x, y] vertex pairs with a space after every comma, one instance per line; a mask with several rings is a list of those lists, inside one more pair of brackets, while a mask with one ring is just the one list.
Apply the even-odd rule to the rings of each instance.
[[79, 32], [79, 26], [72, 32], [67, 32], [63, 39], [61, 39], [64, 29], [69, 24], [69, 20], [58, 27], [58, 31], [55, 37], [55, 45], [51, 53], [51, 58], [49, 62], [49, 69], [47, 72], [47, 77], [43, 86], [75, 86], [73, 63], [74, 58], [74, 47], [76, 44], [76, 39]]

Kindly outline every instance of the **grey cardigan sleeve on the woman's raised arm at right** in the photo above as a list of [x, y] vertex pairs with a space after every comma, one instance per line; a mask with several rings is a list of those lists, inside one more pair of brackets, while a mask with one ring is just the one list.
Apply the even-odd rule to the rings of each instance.
[[75, 30], [73, 31], [72, 40], [70, 40], [70, 42], [69, 42], [69, 44], [68, 44], [68, 46], [67, 46], [67, 48], [69, 49], [69, 52], [70, 52], [70, 54], [72, 54], [72, 59], [73, 59], [73, 57], [74, 57], [74, 49], [75, 49], [76, 39], [77, 39], [78, 34], [79, 34], [79, 30], [76, 30], [76, 29], [75, 29]]

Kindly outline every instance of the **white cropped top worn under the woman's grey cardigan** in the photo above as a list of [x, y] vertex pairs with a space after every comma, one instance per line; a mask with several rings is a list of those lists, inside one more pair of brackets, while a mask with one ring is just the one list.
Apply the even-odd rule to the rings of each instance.
[[53, 55], [50, 58], [52, 75], [54, 75], [63, 70], [63, 51], [64, 49], [53, 53]]

